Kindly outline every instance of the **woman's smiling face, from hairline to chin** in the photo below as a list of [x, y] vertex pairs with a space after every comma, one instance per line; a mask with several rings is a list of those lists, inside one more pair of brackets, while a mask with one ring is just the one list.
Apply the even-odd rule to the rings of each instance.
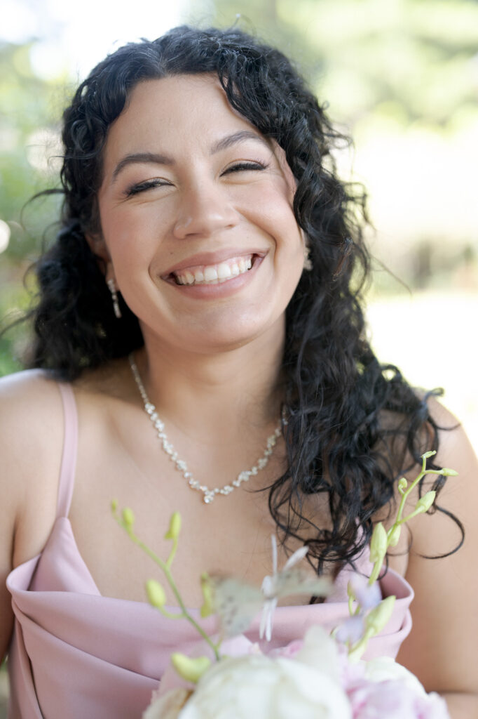
[[282, 341], [304, 266], [294, 190], [283, 150], [230, 107], [217, 78], [133, 89], [108, 133], [94, 249], [146, 346]]

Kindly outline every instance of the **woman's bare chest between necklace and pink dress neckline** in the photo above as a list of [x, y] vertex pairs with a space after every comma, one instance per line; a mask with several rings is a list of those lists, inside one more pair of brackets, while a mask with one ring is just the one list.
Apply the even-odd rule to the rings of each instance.
[[[144, 582], [154, 577], [164, 585], [167, 603], [177, 604], [159, 567], [114, 520], [113, 499], [120, 511], [126, 506], [133, 510], [134, 533], [163, 561], [172, 549], [172, 541], [164, 538], [169, 519], [174, 512], [181, 514], [182, 529], [172, 574], [190, 607], [202, 603], [202, 572], [233, 576], [260, 586], [263, 577], [272, 573], [271, 535], [276, 533], [276, 522], [268, 507], [268, 487], [283, 472], [280, 452], [273, 454], [265, 470], [247, 484], [230, 495], [217, 496], [207, 505], [202, 493], [193, 491], [174, 469], [153, 433], [134, 434], [133, 426], [129, 426], [128, 432], [121, 434], [111, 432], [111, 428], [105, 431], [106, 427], [110, 428], [105, 423], [96, 426], [90, 422], [83, 423], [82, 429], [80, 422], [70, 508], [78, 550], [101, 594], [143, 601]], [[194, 448], [188, 450], [193, 459], [191, 466], [200, 467], [197, 478], [209, 487], [229, 483], [243, 469], [243, 458], [240, 453], [235, 457], [232, 450], [216, 457], [210, 453], [201, 455], [199, 450], [194, 456]], [[311, 502], [304, 504], [304, 516], [317, 528], [327, 528], [327, 501], [316, 498]], [[285, 513], [282, 519], [287, 523]], [[306, 521], [299, 523], [295, 531], [298, 536], [288, 541], [287, 551], [279, 546], [279, 569], [292, 551], [316, 536]], [[305, 560], [302, 565], [314, 576]], [[293, 597], [286, 603], [308, 603], [309, 598]]]

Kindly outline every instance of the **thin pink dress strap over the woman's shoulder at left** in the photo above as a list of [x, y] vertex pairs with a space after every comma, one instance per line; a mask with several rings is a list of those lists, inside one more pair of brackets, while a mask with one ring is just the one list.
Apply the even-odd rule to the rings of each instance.
[[58, 384], [63, 403], [65, 434], [63, 438], [60, 482], [58, 484], [57, 518], [67, 517], [75, 486], [76, 454], [78, 451], [78, 412], [71, 385]]

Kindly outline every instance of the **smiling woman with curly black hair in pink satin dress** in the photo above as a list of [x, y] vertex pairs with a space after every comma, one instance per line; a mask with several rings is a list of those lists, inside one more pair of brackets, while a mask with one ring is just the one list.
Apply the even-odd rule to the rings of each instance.
[[[477, 462], [454, 419], [367, 343], [362, 201], [334, 174], [341, 138], [317, 101], [276, 50], [182, 27], [106, 58], [64, 120], [37, 369], [1, 383], [11, 715], [140, 715], [152, 672], [191, 641], [142, 604], [151, 567], [112, 498], [160, 555], [180, 511], [175, 576], [195, 607], [202, 570], [258, 585], [273, 531], [282, 560], [309, 544], [311, 574], [362, 566], [398, 477], [428, 449], [460, 476], [436, 482], [441, 511], [389, 559], [416, 593], [398, 659], [453, 719], [476, 714]], [[285, 607], [278, 623], [294, 638], [326, 612]]]

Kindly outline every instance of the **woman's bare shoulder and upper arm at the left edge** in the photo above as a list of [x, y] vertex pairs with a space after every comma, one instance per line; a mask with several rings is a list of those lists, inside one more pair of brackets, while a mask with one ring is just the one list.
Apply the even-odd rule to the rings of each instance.
[[13, 628], [6, 577], [42, 550], [55, 521], [62, 447], [57, 385], [42, 372], [0, 380], [0, 661]]

